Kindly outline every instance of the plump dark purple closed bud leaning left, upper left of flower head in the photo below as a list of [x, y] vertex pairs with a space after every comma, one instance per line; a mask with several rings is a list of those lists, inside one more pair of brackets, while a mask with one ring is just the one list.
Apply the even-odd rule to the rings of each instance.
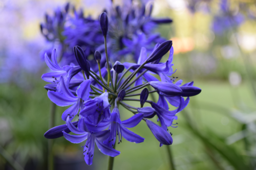
[[80, 46], [74, 46], [74, 53], [76, 56], [76, 61], [78, 62], [78, 64], [80, 65], [80, 67], [82, 68], [82, 70], [84, 71], [84, 73], [87, 76], [87, 79], [89, 79], [89, 75], [90, 75], [90, 64], [86, 59], [86, 55], [84, 54], [82, 48]]

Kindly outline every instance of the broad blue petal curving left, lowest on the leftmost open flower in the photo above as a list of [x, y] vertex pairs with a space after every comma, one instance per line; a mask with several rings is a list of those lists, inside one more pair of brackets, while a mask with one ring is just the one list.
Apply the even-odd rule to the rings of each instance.
[[58, 106], [69, 106], [76, 103], [77, 99], [69, 99], [65, 95], [55, 92], [55, 91], [48, 91], [48, 98]]

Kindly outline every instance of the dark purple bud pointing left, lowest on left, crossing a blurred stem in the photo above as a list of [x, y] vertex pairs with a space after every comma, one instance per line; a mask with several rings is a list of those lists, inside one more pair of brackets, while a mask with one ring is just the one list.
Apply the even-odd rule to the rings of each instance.
[[[77, 127], [78, 122], [72, 122], [72, 124], [75, 127]], [[52, 128], [52, 129], [48, 130], [44, 134], [44, 136], [47, 139], [55, 139], [55, 138], [63, 136], [63, 132], [62, 131], [65, 131], [66, 133], [70, 133], [71, 132], [69, 130], [68, 126], [65, 124], [65, 125], [56, 126], [56, 127]]]

